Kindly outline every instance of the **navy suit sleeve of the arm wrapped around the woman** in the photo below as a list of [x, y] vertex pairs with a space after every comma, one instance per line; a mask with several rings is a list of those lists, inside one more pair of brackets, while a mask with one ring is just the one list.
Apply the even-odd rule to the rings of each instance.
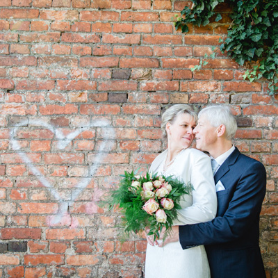
[[223, 216], [204, 223], [179, 226], [179, 241], [183, 249], [191, 245], [235, 240], [259, 217], [265, 196], [265, 168], [257, 161], [246, 166], [244, 165], [243, 174], [237, 181], [236, 190]]

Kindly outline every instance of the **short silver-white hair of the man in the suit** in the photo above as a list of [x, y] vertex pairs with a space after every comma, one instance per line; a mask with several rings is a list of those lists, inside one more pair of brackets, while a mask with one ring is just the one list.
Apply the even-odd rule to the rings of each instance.
[[204, 115], [206, 120], [211, 123], [212, 126], [217, 127], [220, 124], [224, 124], [226, 127], [225, 136], [228, 140], [232, 140], [236, 134], [238, 125], [236, 124], [236, 118], [231, 113], [229, 106], [213, 105], [202, 109], [199, 112], [199, 117]]

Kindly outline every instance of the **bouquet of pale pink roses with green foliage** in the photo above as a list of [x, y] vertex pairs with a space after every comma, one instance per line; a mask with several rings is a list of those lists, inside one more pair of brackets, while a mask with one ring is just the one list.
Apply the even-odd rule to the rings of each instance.
[[165, 227], [166, 238], [172, 231], [173, 220], [177, 219], [177, 209], [181, 208], [181, 195], [193, 189], [174, 177], [158, 176], [147, 172], [145, 176], [124, 172], [120, 186], [112, 192], [110, 208], [122, 208], [124, 234], [137, 233], [146, 228], [148, 235], [159, 239], [159, 232]]

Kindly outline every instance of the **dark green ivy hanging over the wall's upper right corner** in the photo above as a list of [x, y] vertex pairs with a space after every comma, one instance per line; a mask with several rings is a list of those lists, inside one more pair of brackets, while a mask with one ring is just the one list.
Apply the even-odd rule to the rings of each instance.
[[[215, 15], [215, 22], [222, 17], [215, 13], [215, 7], [224, 0], [193, 0], [193, 7], [187, 6], [177, 17], [176, 29], [188, 32], [188, 24], [206, 26]], [[229, 0], [233, 12], [227, 38], [220, 50], [236, 60], [239, 65], [253, 63], [253, 70], [247, 70], [244, 79], [257, 81], [268, 79], [269, 94], [278, 90], [278, 1], [277, 0]]]

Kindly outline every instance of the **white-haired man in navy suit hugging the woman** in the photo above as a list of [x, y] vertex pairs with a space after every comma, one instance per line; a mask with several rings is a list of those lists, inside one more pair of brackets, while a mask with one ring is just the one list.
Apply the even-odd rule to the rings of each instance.
[[211, 278], [264, 278], [259, 215], [265, 196], [265, 168], [232, 145], [236, 128], [227, 106], [210, 106], [199, 113], [194, 129], [196, 146], [211, 155], [217, 215], [209, 222], [173, 227], [164, 245], [177, 240], [183, 249], [205, 245]]

